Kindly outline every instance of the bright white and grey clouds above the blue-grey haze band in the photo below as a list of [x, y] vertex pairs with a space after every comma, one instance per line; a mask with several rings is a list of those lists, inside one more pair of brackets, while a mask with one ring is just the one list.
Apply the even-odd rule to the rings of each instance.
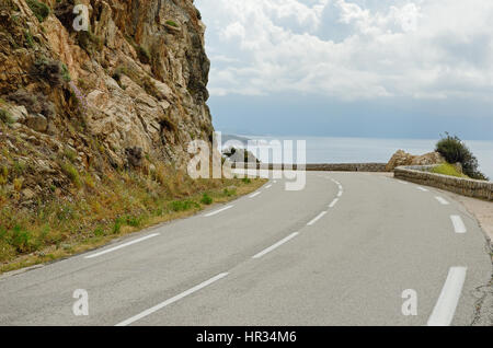
[[196, 4], [207, 49], [219, 57], [211, 56], [213, 95], [484, 100], [493, 91], [491, 0]]

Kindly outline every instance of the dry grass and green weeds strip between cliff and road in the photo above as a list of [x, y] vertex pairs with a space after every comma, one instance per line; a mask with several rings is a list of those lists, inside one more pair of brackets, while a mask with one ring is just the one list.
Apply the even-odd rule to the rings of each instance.
[[115, 237], [190, 217], [211, 202], [249, 194], [264, 179], [198, 179], [157, 165], [148, 175], [112, 173], [98, 182], [81, 174], [69, 198], [32, 210], [10, 205], [0, 186], [0, 274], [67, 257]]

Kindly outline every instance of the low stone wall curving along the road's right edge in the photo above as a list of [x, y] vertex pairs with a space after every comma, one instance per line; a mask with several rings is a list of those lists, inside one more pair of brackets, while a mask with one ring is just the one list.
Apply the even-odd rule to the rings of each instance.
[[408, 182], [446, 189], [462, 196], [493, 200], [493, 183], [431, 173], [433, 165], [399, 166], [394, 176]]

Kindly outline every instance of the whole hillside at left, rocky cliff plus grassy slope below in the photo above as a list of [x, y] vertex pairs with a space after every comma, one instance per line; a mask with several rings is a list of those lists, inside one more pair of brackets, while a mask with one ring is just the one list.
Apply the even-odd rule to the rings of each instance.
[[1, 1], [0, 262], [257, 185], [184, 173], [188, 143], [214, 132], [204, 32], [191, 0]]

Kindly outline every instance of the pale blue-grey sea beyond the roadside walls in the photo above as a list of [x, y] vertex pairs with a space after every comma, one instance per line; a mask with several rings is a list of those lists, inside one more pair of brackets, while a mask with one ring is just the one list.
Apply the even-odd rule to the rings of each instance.
[[[223, 142], [237, 140], [273, 140], [306, 141], [307, 163], [358, 163], [388, 162], [397, 150], [404, 150], [412, 154], [424, 154], [435, 150], [437, 139], [375, 139], [375, 138], [334, 138], [334, 137], [272, 137], [272, 136], [226, 136]], [[466, 146], [478, 159], [480, 171], [493, 181], [493, 141], [465, 140]], [[295, 151], [296, 153], [296, 146]], [[295, 155], [296, 158], [296, 155]], [[272, 159], [262, 158], [264, 163]]]

